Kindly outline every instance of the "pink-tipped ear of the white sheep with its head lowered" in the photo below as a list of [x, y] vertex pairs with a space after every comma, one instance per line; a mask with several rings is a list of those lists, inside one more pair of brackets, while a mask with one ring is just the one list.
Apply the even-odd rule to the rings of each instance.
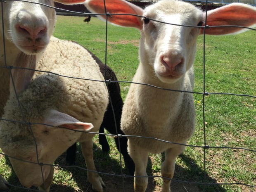
[[68, 114], [56, 110], [49, 110], [45, 114], [44, 123], [54, 127], [65, 127], [73, 130], [88, 131], [93, 128], [92, 123], [83, 123]]

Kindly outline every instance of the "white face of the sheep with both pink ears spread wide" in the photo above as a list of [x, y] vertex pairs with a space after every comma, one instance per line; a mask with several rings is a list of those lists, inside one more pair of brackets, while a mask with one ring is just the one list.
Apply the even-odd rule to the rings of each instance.
[[140, 59], [143, 64], [151, 65], [147, 68], [153, 70], [160, 81], [178, 81], [194, 62], [196, 40], [200, 33], [200, 28], [180, 25], [202, 25], [203, 12], [185, 2], [164, 0], [147, 7], [142, 16], [177, 24], [142, 18]]

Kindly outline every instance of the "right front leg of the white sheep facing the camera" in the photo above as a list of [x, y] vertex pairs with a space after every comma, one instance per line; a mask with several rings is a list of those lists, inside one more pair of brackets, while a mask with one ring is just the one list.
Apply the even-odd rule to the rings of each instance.
[[[183, 145], [175, 145], [165, 151], [165, 159], [161, 165], [161, 173], [164, 178], [173, 178], [173, 173], [175, 169], [175, 160], [179, 154], [181, 154], [185, 149]], [[171, 180], [163, 179], [163, 188], [161, 192], [170, 192]]]

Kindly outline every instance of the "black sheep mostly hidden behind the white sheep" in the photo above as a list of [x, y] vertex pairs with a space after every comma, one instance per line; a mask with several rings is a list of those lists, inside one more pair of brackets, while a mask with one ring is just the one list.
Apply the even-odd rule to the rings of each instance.
[[[86, 49], [86, 48], [85, 48]], [[100, 71], [102, 75], [104, 76], [105, 79], [111, 80], [111, 81], [118, 81], [116, 78], [116, 74], [114, 71], [109, 67], [106, 66], [106, 76], [105, 76], [105, 64], [103, 64], [99, 58], [97, 58], [92, 52], [90, 52], [88, 49], [87, 51], [92, 55], [92, 57], [95, 59], [97, 64], [100, 67]], [[109, 83], [109, 96], [111, 98], [111, 102], [113, 104], [114, 108], [114, 113], [115, 113], [115, 119], [116, 119], [116, 126], [115, 126], [115, 121], [113, 117], [113, 111], [110, 105], [107, 107], [107, 111], [104, 114], [103, 122], [102, 125], [100, 126], [100, 133], [104, 133], [104, 128], [106, 128], [109, 133], [111, 134], [121, 134], [124, 135], [123, 131], [121, 130], [120, 127], [120, 121], [121, 121], [121, 114], [122, 114], [122, 108], [123, 108], [123, 100], [121, 97], [121, 90], [118, 82], [112, 82]], [[116, 133], [116, 128], [117, 128], [117, 133]], [[119, 141], [118, 141], [119, 140]], [[119, 150], [119, 142], [120, 142], [120, 150], [121, 154], [123, 155], [123, 160], [126, 165], [126, 168], [129, 171], [130, 175], [134, 175], [135, 171], [135, 165], [133, 163], [133, 160], [130, 158], [128, 152], [127, 152], [127, 137], [121, 137], [121, 138], [115, 138], [116, 142], [116, 148]], [[104, 152], [108, 152], [109, 149], [109, 144], [107, 142], [106, 136], [105, 135], [99, 135], [99, 142], [100, 145], [102, 146], [102, 150]], [[76, 143], [73, 144], [69, 149], [66, 151], [66, 161], [69, 164], [75, 164], [76, 160]]]

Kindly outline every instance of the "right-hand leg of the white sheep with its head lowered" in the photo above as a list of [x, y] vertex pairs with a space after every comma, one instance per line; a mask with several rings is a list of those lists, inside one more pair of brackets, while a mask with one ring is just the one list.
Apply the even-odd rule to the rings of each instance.
[[92, 145], [92, 140], [81, 142], [81, 148], [83, 156], [85, 158], [86, 167], [88, 170], [91, 170], [87, 171], [87, 177], [89, 182], [92, 184], [92, 190], [94, 190], [95, 192], [103, 192], [102, 186], [105, 185], [102, 181], [102, 178], [98, 175], [98, 173], [92, 172], [97, 171], [93, 161]]

